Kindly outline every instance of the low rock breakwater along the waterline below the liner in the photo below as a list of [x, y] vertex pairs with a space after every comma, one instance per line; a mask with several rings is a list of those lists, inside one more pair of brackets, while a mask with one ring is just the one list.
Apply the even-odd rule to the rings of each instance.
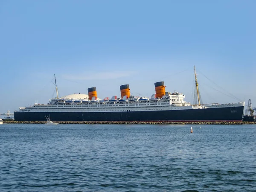
[[[256, 122], [164, 122], [164, 121], [55, 121], [58, 124], [124, 124], [124, 125], [256, 125]], [[44, 124], [46, 121], [3, 121], [3, 124]]]

